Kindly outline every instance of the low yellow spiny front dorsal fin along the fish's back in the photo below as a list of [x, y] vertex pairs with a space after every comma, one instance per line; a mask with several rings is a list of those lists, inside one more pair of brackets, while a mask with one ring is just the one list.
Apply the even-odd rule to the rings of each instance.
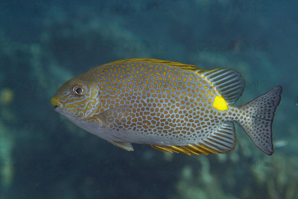
[[191, 70], [191, 71], [201, 71], [204, 69], [198, 68], [195, 65], [187, 65], [187, 64], [182, 64], [179, 62], [172, 62], [172, 61], [166, 61], [166, 60], [158, 60], [158, 59], [148, 59], [148, 58], [134, 58], [134, 59], [126, 59], [126, 60], [118, 60], [115, 62], [111, 62], [106, 65], [116, 65], [116, 64], [124, 64], [124, 63], [134, 63], [134, 62], [147, 62], [151, 64], [165, 64], [168, 66], [175, 66], [179, 67], [181, 69], [185, 70]]

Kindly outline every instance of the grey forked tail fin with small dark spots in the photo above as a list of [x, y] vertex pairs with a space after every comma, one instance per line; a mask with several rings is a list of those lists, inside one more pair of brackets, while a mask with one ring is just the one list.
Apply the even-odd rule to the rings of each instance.
[[253, 143], [267, 155], [273, 153], [272, 123], [281, 101], [282, 87], [277, 86], [239, 108], [243, 120], [237, 121]]

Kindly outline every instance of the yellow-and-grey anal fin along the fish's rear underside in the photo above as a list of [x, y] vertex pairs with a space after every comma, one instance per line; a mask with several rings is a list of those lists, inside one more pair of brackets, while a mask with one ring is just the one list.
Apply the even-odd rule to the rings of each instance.
[[202, 139], [198, 144], [187, 144], [184, 146], [172, 145], [151, 145], [153, 148], [166, 152], [182, 152], [188, 155], [194, 154], [210, 154], [210, 153], [226, 153], [236, 146], [236, 134], [234, 123], [224, 122], [219, 125], [212, 135]]

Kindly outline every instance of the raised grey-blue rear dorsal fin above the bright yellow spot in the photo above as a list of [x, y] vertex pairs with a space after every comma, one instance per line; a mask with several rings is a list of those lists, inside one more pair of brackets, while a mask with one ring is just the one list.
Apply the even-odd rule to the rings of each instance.
[[245, 80], [241, 73], [230, 68], [215, 68], [199, 72], [206, 77], [212, 85], [216, 86], [219, 93], [228, 104], [234, 104], [242, 95]]

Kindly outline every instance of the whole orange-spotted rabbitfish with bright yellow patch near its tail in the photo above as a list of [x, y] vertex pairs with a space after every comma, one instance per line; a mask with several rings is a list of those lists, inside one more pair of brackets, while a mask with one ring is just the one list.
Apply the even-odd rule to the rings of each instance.
[[233, 106], [244, 88], [244, 77], [231, 68], [135, 58], [93, 67], [68, 80], [51, 103], [76, 126], [128, 151], [137, 143], [188, 155], [226, 153], [236, 146], [237, 124], [272, 155], [282, 87]]

